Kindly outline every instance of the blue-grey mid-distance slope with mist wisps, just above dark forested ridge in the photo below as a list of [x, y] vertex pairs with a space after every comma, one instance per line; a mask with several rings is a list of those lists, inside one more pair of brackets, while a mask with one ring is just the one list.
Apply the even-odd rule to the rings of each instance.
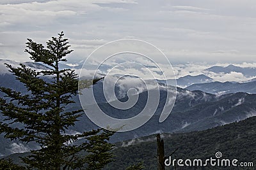
[[[134, 131], [115, 134], [113, 141], [145, 136], [157, 131], [201, 131], [218, 125], [244, 120], [255, 115], [256, 111], [256, 94], [237, 93], [215, 96], [201, 91], [190, 92], [179, 88], [172, 113], [160, 124], [159, 115], [166, 100], [164, 93], [164, 90], [162, 90], [160, 104], [156, 113], [145, 125]], [[129, 118], [143, 110], [145, 106], [143, 101], [147, 101], [147, 92], [142, 92], [138, 103], [129, 110], [116, 110], [109, 106], [108, 103], [99, 103], [99, 106], [102, 111], [111, 117]]]

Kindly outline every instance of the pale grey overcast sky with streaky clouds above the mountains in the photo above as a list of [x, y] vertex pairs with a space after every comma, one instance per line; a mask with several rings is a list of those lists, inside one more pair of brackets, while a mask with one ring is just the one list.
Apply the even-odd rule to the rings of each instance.
[[0, 58], [29, 60], [26, 38], [45, 43], [60, 31], [86, 57], [109, 41], [135, 38], [163, 50], [173, 63], [253, 62], [255, 0], [1, 0]]

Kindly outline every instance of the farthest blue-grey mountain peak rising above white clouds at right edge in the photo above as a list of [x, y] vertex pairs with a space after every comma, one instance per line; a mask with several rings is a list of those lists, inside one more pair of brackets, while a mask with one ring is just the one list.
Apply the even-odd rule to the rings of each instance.
[[238, 67], [230, 64], [227, 67], [222, 66], [213, 66], [209, 67], [208, 69], [205, 69], [206, 71], [211, 71], [213, 73], [231, 73], [231, 72], [237, 72], [242, 73], [246, 77], [252, 77], [256, 76], [256, 68], [255, 67]]

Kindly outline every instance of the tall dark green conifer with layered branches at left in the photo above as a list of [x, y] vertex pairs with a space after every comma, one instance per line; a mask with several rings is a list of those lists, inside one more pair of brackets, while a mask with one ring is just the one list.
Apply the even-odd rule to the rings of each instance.
[[[22, 158], [29, 169], [102, 169], [113, 158], [109, 152], [113, 145], [108, 143], [113, 132], [96, 129], [74, 135], [67, 133], [82, 117], [83, 110], [65, 111], [68, 104], [74, 103], [72, 97], [78, 94], [79, 81], [74, 70], [60, 69], [60, 63], [67, 62], [65, 57], [72, 52], [68, 39], [63, 36], [61, 32], [58, 37], [52, 37], [46, 48], [31, 39], [26, 43], [25, 52], [30, 59], [45, 64], [49, 70], [36, 71], [24, 64], [17, 68], [6, 64], [28, 93], [0, 88], [6, 95], [0, 98], [0, 111], [4, 116], [0, 132], [4, 133], [4, 138], [35, 142], [40, 146], [39, 150], [31, 150], [31, 155]], [[88, 82], [84, 87], [88, 87]], [[78, 139], [84, 139], [83, 143], [70, 145]]]

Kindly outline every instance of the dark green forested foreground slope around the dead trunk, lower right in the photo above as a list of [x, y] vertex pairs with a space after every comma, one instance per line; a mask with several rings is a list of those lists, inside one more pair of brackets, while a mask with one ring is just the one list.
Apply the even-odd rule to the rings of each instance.
[[[256, 117], [248, 118], [206, 131], [178, 134], [162, 134], [164, 137], [165, 155], [169, 155], [176, 148], [172, 159], [202, 159], [215, 158], [216, 152], [221, 152], [221, 159], [237, 159], [239, 162], [253, 162], [256, 164]], [[147, 136], [117, 143], [114, 153], [115, 162], [111, 162], [106, 169], [125, 169], [130, 164], [143, 161], [145, 169], [157, 167], [156, 136]], [[170, 168], [170, 167], [168, 167]], [[173, 168], [173, 167], [172, 167]], [[193, 167], [177, 167], [177, 169], [192, 169]], [[199, 169], [202, 169], [200, 167]], [[255, 167], [205, 167], [205, 169], [255, 169]]]

